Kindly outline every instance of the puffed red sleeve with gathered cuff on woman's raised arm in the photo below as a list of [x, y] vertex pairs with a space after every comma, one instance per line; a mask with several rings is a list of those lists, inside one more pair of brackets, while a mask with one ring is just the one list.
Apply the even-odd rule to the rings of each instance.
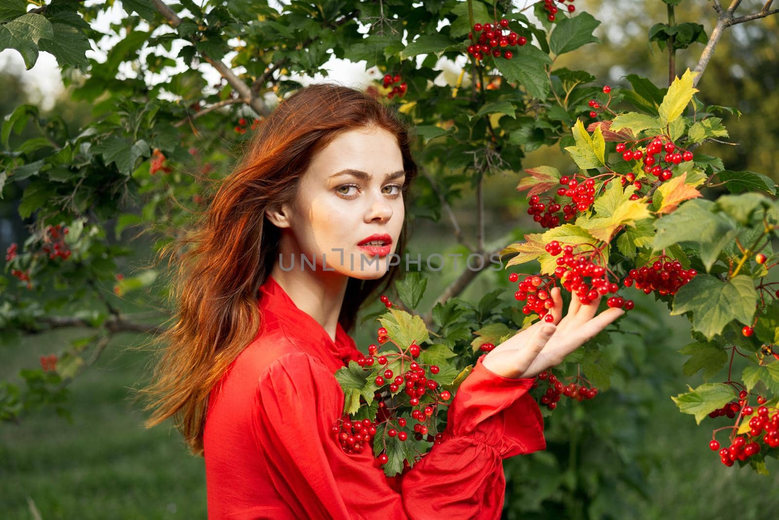
[[532, 380], [500, 377], [482, 366], [482, 358], [453, 398], [449, 435], [404, 474], [400, 492], [390, 486], [370, 449], [350, 455], [333, 437], [344, 392], [323, 363], [294, 352], [268, 366], [259, 377], [252, 429], [291, 513], [298, 518], [499, 518], [506, 487], [502, 459], [543, 449], [543, 422], [527, 395]]

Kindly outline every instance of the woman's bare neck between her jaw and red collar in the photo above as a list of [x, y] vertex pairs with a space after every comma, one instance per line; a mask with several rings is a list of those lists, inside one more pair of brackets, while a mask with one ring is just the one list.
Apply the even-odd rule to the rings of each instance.
[[[298, 309], [314, 318], [335, 341], [338, 316], [344, 303], [349, 277], [336, 271], [322, 271], [321, 258], [317, 259], [317, 271], [312, 270], [308, 264], [301, 269], [300, 260], [300, 254], [295, 254], [295, 264], [290, 271], [282, 270], [276, 262], [270, 275], [284, 292], [287, 292]], [[285, 255], [284, 265], [288, 266], [290, 263], [291, 256]]]

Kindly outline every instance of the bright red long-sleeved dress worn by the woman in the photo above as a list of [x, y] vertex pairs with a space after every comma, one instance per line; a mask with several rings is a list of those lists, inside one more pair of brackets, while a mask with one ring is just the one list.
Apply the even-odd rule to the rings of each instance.
[[356, 359], [354, 340], [338, 324], [333, 342], [270, 276], [258, 305], [260, 331], [210, 393], [211, 520], [500, 517], [502, 459], [546, 447], [531, 379], [492, 373], [481, 356], [449, 407], [443, 443], [387, 478], [370, 449], [347, 455], [330, 430], [344, 406], [333, 373]]

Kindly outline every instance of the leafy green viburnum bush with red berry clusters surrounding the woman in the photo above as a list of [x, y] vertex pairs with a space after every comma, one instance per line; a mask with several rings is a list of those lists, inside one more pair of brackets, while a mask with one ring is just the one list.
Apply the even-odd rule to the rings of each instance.
[[[777, 455], [777, 187], [717, 157], [724, 140], [743, 138], [730, 136], [721, 119], [740, 111], [708, 101], [717, 100], [716, 88], [696, 86], [728, 27], [760, 23], [775, 9], [749, 13], [739, 2], [710, 2], [715, 30], [708, 35], [700, 23], [676, 21], [693, 5], [685, 2], [664, 0], [668, 23], [658, 21], [647, 35], [668, 56], [664, 85], [640, 75], [649, 73], [645, 63], [611, 63], [628, 73], [608, 81], [587, 70], [605, 44], [594, 34], [601, 22], [581, 0], [125, 0], [115, 9], [121, 22], [102, 30], [94, 21], [109, 2], [5, 2], [0, 49], [18, 51], [28, 69], [40, 51], [54, 55], [72, 98], [92, 112], [73, 126], [56, 111], [22, 104], [0, 129], [0, 195], [18, 203], [30, 229], [6, 251], [2, 341], [61, 327], [84, 331], [45, 352], [45, 362], [30, 359], [19, 373], [23, 386], [0, 383], [0, 417], [18, 421], [47, 404], [66, 416], [67, 386], [113, 335], [160, 332], [166, 291], [158, 281], [166, 273], [129, 260], [153, 256], [209, 203], [212, 193], [192, 173], [218, 179], [230, 172], [266, 115], [301, 87], [294, 75], [326, 73], [334, 57], [364, 63], [365, 91], [412, 127], [421, 175], [407, 218], [444, 216], [442, 234], [453, 229], [469, 262], [455, 267], [431, 310], [418, 309], [430, 276], [419, 272], [375, 302], [381, 312], [365, 317], [379, 320], [375, 341], [364, 345], [361, 363], [337, 373], [346, 401], [333, 442], [372, 450], [388, 474], [413, 465], [446, 442], [446, 408], [478, 356], [547, 319], [549, 292], [559, 286], [566, 301], [573, 293], [585, 304], [603, 295], [602, 305], [629, 313], [539, 374], [532, 394], [551, 416], [545, 455], [552, 458], [507, 461], [509, 481], [553, 472], [554, 481], [527, 485], [564, 504], [566, 518], [581, 502], [561, 497], [590, 501], [594, 486], [636, 482], [640, 471], [625, 453], [643, 444], [616, 439], [640, 435], [653, 420], [642, 415], [650, 402], [635, 401], [640, 382], [661, 372], [656, 357], [640, 362], [657, 336], [634, 334], [630, 355], [619, 361], [609, 349], [631, 323], [651, 321], [664, 334], [648, 302], [689, 320], [683, 371], [704, 383], [679, 388], [674, 401], [711, 431], [701, 435], [702, 449], [710, 455], [705, 444], [716, 440], [725, 464], [765, 472], [765, 458]], [[105, 48], [105, 41], [117, 43]], [[697, 63], [677, 67], [675, 53], [689, 56], [698, 44]], [[104, 59], [88, 56], [90, 48], [103, 49]], [[575, 69], [561, 65], [566, 58]], [[459, 74], [442, 72], [442, 60]], [[220, 79], [206, 78], [206, 70]], [[527, 153], [558, 146], [568, 161], [563, 171], [526, 164]], [[511, 172], [527, 217], [506, 235], [488, 236], [487, 212], [500, 207], [488, 188], [496, 174]], [[473, 239], [458, 222], [457, 204], [470, 190]], [[130, 231], [149, 242], [129, 246]], [[510, 271], [499, 288], [478, 302], [461, 298], [495, 256]], [[616, 398], [612, 383], [628, 377]], [[587, 435], [555, 423], [562, 414]], [[631, 421], [611, 427], [625, 418]], [[584, 464], [583, 448], [609, 462]], [[507, 500], [516, 511], [531, 507]]]

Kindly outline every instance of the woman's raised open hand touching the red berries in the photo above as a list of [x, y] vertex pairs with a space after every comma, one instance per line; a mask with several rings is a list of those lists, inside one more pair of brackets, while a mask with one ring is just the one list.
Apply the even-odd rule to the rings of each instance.
[[598, 295], [589, 305], [582, 305], [574, 292], [571, 295], [568, 314], [560, 320], [560, 288], [552, 288], [550, 296], [555, 305], [549, 309], [549, 314], [552, 314], [555, 320], [538, 320], [503, 341], [482, 360], [481, 363], [486, 369], [502, 377], [535, 377], [538, 373], [559, 365], [569, 353], [625, 313], [618, 307], [609, 307], [595, 316], [602, 296]]

